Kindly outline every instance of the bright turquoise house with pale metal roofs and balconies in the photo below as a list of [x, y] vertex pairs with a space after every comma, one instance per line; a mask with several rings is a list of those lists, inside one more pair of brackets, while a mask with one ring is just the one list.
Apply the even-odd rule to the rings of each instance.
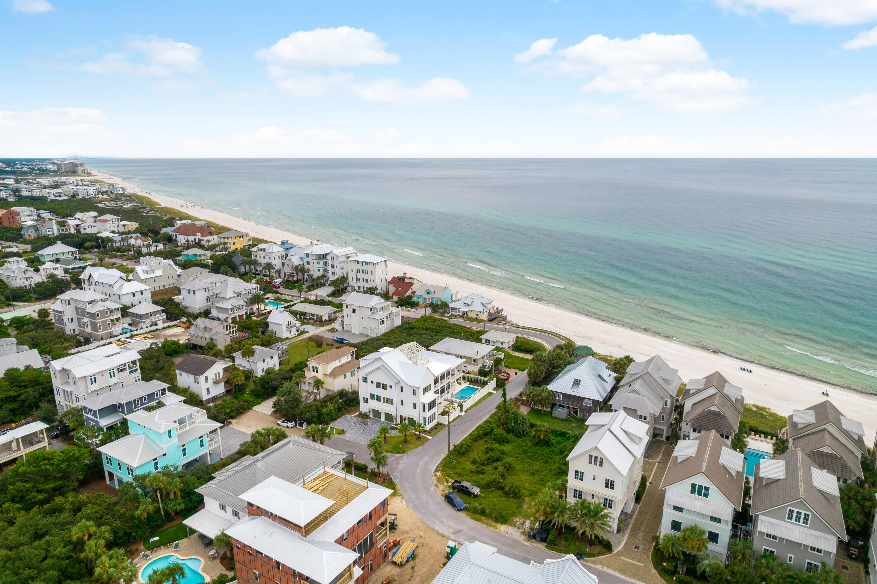
[[131, 433], [97, 448], [103, 456], [107, 484], [119, 488], [138, 474], [165, 466], [212, 463], [222, 458], [222, 424], [207, 419], [206, 411], [182, 403], [179, 395], [162, 395], [161, 402], [166, 405], [158, 410], [125, 416]]

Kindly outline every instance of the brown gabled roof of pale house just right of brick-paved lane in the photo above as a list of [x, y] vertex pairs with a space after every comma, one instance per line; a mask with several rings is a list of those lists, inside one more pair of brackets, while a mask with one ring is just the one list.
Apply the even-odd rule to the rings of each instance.
[[[733, 472], [731, 472], [733, 471]], [[745, 462], [743, 454], [731, 450], [717, 431], [698, 434], [690, 440], [680, 440], [667, 466], [660, 488], [703, 474], [722, 491], [734, 509], [743, 504]]]

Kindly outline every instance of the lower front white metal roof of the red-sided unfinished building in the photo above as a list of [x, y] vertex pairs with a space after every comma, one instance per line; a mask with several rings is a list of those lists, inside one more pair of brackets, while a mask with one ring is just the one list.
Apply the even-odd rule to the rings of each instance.
[[334, 542], [305, 539], [296, 531], [263, 516], [245, 517], [225, 533], [325, 584], [360, 556]]

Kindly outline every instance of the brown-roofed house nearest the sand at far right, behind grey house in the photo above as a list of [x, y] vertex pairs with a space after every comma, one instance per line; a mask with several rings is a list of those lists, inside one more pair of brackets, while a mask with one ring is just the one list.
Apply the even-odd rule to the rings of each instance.
[[839, 483], [858, 482], [864, 476], [861, 459], [868, 454], [865, 427], [845, 417], [830, 401], [793, 410], [787, 436], [790, 450], [800, 448], [816, 468], [834, 475]]

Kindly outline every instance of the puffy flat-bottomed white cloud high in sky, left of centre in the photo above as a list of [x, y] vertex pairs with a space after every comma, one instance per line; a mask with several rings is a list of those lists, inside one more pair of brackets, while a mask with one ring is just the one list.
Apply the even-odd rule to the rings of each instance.
[[386, 46], [374, 32], [339, 26], [293, 32], [256, 57], [298, 68], [395, 65], [399, 55], [387, 53]]

